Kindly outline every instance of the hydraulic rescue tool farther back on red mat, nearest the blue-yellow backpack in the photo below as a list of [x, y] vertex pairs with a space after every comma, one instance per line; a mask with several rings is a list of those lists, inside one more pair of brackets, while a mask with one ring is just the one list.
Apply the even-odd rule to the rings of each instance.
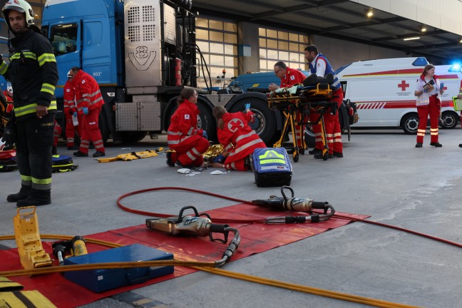
[[[284, 190], [289, 190], [292, 195], [287, 197]], [[335, 210], [329, 202], [314, 201], [308, 198], [294, 197], [294, 190], [289, 186], [281, 187], [282, 197], [270, 196], [266, 200], [252, 200], [252, 204], [262, 207], [272, 207], [275, 210], [288, 210], [295, 212], [309, 212], [309, 216], [283, 216], [283, 217], [268, 217], [267, 223], [300, 223], [300, 222], [320, 222], [329, 220], [334, 215]], [[324, 214], [312, 215], [312, 209], [324, 210]], [[328, 212], [329, 210], [329, 212]]]

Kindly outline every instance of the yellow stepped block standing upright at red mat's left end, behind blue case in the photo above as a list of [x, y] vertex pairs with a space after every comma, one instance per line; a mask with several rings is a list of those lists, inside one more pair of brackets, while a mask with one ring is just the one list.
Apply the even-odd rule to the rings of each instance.
[[51, 266], [53, 261], [41, 245], [36, 207], [19, 207], [13, 222], [14, 237], [24, 269]]

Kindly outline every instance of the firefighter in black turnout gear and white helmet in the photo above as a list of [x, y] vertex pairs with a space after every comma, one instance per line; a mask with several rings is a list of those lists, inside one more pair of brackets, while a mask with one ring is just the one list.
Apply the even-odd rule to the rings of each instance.
[[16, 116], [16, 159], [21, 190], [6, 200], [17, 207], [51, 203], [51, 148], [56, 115], [54, 91], [58, 68], [51, 43], [34, 26], [34, 11], [24, 0], [9, 0], [2, 9], [14, 34], [10, 63], [0, 73], [11, 81]]

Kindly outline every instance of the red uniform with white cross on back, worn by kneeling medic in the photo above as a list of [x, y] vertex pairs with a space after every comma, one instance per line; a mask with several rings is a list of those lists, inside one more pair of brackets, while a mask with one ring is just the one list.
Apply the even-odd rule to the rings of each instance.
[[227, 170], [247, 170], [245, 158], [256, 148], [266, 148], [265, 143], [250, 128], [248, 123], [254, 120], [252, 111], [247, 113], [225, 113], [222, 116], [223, 129], [218, 128], [218, 141], [230, 154], [225, 160]]

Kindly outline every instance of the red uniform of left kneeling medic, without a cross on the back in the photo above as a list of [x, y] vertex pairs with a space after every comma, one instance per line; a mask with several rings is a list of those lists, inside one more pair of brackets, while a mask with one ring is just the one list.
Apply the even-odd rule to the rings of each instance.
[[202, 154], [208, 149], [209, 142], [202, 137], [204, 130], [197, 129], [199, 112], [194, 103], [185, 99], [170, 118], [167, 142], [168, 146], [175, 150], [172, 153], [173, 163], [179, 161], [181, 165], [195, 165], [195, 167], [204, 163]]

